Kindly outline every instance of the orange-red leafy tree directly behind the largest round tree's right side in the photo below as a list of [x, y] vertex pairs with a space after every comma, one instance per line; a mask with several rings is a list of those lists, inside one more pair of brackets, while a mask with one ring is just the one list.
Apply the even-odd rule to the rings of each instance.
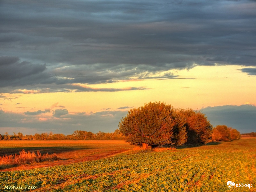
[[212, 136], [212, 124], [200, 111], [192, 109], [177, 109], [177, 113], [184, 119], [188, 140], [186, 144], [205, 144]]

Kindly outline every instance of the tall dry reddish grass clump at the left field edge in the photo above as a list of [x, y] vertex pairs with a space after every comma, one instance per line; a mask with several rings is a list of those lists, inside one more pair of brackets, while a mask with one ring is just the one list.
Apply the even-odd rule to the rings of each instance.
[[55, 161], [58, 160], [59, 157], [56, 153], [49, 155], [48, 153], [42, 155], [39, 150], [37, 152], [26, 152], [24, 149], [20, 151], [20, 155], [5, 155], [0, 156], [0, 169], [9, 168], [18, 166], [21, 164], [31, 164], [38, 163], [43, 161]]

